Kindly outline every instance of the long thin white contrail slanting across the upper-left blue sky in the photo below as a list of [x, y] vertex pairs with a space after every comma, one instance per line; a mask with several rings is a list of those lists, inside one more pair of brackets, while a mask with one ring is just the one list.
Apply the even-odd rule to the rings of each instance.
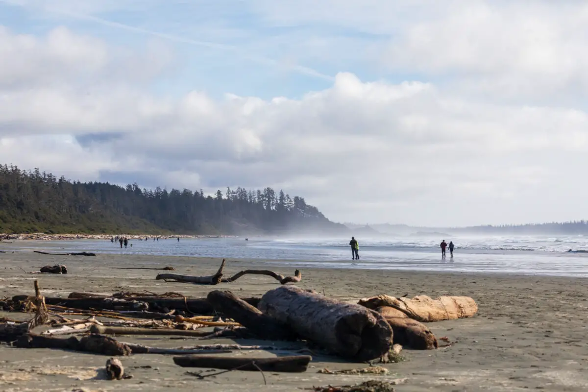
[[[12, 5], [12, 6], [19, 6], [22, 8], [27, 8], [27, 6], [25, 4], [22, 4], [22, 2], [16, 2], [14, 0], [12, 0], [12, 1], [11, 0], [0, 0], [0, 3]], [[78, 19], [78, 20], [82, 20], [82, 21], [95, 22], [97, 24], [101, 24], [101, 25], [105, 25], [105, 26], [109, 26], [109, 27], [113, 27], [113, 28], [117, 28], [117, 29], [121, 29], [121, 30], [126, 30], [126, 31], [130, 31], [133, 33], [139, 33], [139, 34], [143, 34], [143, 35], [151, 35], [151, 36], [155, 36], [158, 38], [166, 39], [168, 41], [179, 42], [179, 43], [188, 43], [188, 45], [204, 46], [206, 48], [232, 51], [232, 52], [238, 53], [239, 56], [241, 56], [242, 58], [245, 58], [245, 59], [260, 63], [260, 64], [288, 68], [288, 69], [291, 69], [292, 71], [301, 73], [302, 75], [313, 76], [315, 78], [325, 79], [325, 80], [328, 80], [331, 82], [335, 80], [335, 78], [333, 78], [333, 76], [326, 75], [325, 73], [318, 72], [315, 69], [312, 69], [312, 68], [309, 68], [309, 67], [306, 67], [303, 65], [288, 65], [288, 64], [281, 63], [275, 59], [267, 58], [264, 56], [252, 56], [252, 55], [249, 55], [248, 53], [243, 53], [242, 49], [238, 48], [238, 46], [235, 46], [235, 45], [226, 45], [224, 43], [199, 41], [197, 39], [184, 38], [184, 37], [177, 36], [177, 35], [172, 35], [172, 34], [162, 33], [162, 32], [157, 32], [157, 31], [151, 31], [151, 30], [142, 29], [142, 28], [135, 27], [135, 26], [122, 24], [119, 22], [113, 22], [113, 21], [109, 21], [108, 19], [98, 18], [98, 17], [92, 16], [92, 15], [84, 15], [84, 14], [78, 14], [76, 12], [65, 11], [63, 9], [44, 8], [44, 11], [52, 12], [53, 14], [61, 14], [61, 15], [69, 16], [70, 18], [74, 18], [74, 19]]]

